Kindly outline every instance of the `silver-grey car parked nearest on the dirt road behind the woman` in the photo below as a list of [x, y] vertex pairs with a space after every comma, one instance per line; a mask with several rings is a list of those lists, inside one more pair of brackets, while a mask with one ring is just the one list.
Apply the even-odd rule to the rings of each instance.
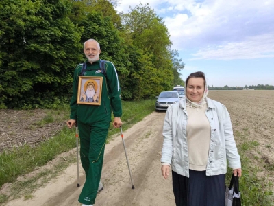
[[155, 111], [166, 110], [177, 102], [179, 102], [179, 93], [177, 91], [162, 91], [157, 97]]

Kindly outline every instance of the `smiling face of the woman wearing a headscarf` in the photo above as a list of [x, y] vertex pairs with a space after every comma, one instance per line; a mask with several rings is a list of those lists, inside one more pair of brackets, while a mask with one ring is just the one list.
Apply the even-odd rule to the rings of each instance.
[[186, 96], [191, 102], [199, 102], [203, 98], [204, 84], [203, 78], [189, 78], [186, 86]]

